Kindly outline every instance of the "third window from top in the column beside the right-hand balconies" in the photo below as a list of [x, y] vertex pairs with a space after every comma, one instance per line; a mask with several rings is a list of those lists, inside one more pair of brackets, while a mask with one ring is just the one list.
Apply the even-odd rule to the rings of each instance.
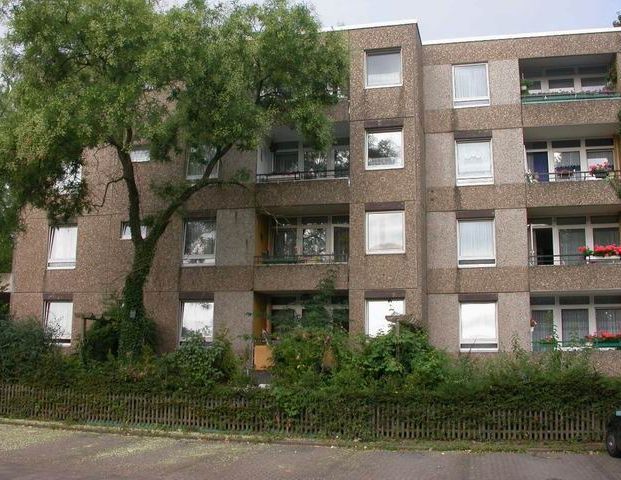
[[460, 267], [496, 265], [494, 220], [460, 220], [457, 230]]

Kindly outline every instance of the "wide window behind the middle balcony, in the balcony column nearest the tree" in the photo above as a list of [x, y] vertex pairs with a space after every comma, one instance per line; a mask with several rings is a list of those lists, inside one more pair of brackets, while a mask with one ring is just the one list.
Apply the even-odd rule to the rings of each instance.
[[349, 256], [347, 215], [283, 218], [271, 234], [274, 260], [346, 262]]

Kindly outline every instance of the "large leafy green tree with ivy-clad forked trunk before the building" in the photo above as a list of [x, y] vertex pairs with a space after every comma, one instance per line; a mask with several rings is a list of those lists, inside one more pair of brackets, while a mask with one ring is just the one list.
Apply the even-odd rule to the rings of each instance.
[[[21, 205], [59, 219], [96, 208], [88, 179], [76, 174], [85, 153], [115, 152], [120, 175], [110, 182], [126, 187], [134, 247], [120, 352], [136, 354], [144, 343], [144, 285], [172, 217], [197, 192], [226, 183], [209, 176], [229, 151], [256, 149], [275, 125], [326, 148], [326, 106], [345, 84], [346, 48], [338, 33], [320, 31], [308, 7], [287, 0], [215, 7], [192, 0], [169, 10], [155, 0], [4, 0], [4, 11], [11, 88], [0, 163]], [[165, 206], [148, 218], [130, 158], [136, 142], [160, 162], [210, 152], [198, 181], [151, 187]]]

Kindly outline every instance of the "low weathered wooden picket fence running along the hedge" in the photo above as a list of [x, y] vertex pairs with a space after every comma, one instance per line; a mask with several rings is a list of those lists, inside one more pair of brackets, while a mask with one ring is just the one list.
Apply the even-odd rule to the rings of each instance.
[[85, 394], [0, 385], [0, 417], [296, 436], [424, 440], [599, 441], [601, 407], [550, 411], [336, 399], [286, 413], [267, 392], [195, 398]]

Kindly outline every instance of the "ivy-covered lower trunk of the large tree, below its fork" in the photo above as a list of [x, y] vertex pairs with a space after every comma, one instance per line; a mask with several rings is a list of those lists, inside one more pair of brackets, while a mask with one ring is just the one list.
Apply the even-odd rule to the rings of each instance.
[[137, 357], [145, 347], [152, 346], [155, 332], [144, 304], [144, 286], [153, 265], [157, 242], [134, 245], [132, 269], [125, 278], [122, 295], [119, 356]]

